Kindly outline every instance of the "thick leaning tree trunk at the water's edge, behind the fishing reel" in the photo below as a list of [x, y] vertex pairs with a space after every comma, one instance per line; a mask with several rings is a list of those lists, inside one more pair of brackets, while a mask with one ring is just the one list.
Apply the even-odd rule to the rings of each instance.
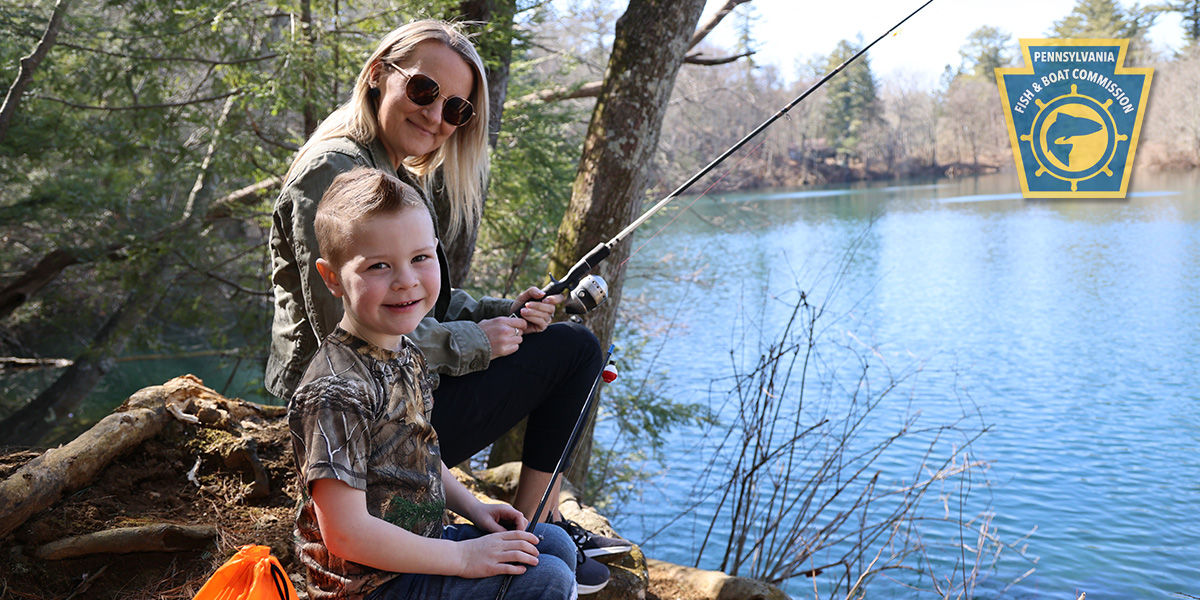
[[[558, 228], [552, 272], [565, 274], [641, 211], [667, 101], [703, 7], [703, 0], [631, 0], [617, 20], [571, 203]], [[610, 298], [587, 317], [587, 324], [602, 346], [612, 338], [629, 253], [629, 245], [622, 244], [596, 269], [608, 283]], [[568, 472], [577, 485], [586, 481], [592, 456], [590, 427], [584, 433]]]

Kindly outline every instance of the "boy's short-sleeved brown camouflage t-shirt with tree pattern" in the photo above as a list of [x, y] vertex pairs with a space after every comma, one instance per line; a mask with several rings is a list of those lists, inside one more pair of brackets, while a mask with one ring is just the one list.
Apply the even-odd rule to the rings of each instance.
[[341, 328], [325, 337], [288, 403], [300, 470], [296, 554], [310, 598], [361, 598], [396, 576], [330, 554], [308, 487], [337, 479], [367, 496], [367, 512], [427, 538], [442, 536], [442, 452], [430, 422], [425, 356], [408, 338], [398, 352]]

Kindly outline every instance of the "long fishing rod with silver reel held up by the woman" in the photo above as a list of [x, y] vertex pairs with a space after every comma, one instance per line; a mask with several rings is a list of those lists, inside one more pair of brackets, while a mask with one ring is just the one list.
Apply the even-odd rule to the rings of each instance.
[[[750, 142], [755, 136], [762, 133], [763, 130], [766, 130], [767, 127], [770, 127], [772, 124], [778, 121], [781, 116], [786, 115], [788, 110], [796, 107], [796, 104], [803, 102], [804, 98], [809, 97], [814, 91], [824, 85], [829, 79], [833, 79], [834, 76], [840, 73], [851, 62], [858, 60], [859, 56], [866, 54], [866, 50], [870, 50], [872, 46], [875, 46], [881, 40], [887, 37], [888, 34], [899, 29], [900, 25], [904, 25], [905, 22], [907, 22], [914, 14], [917, 14], [923, 8], [929, 6], [932, 1], [934, 0], [925, 0], [925, 2], [918, 6], [917, 10], [908, 13], [907, 17], [900, 19], [900, 22], [896, 23], [895, 25], [892, 25], [890, 29], [888, 29], [882, 35], [876, 37], [875, 41], [872, 41], [871, 43], [864, 46], [860, 50], [854, 53], [853, 56], [842, 61], [842, 64], [838, 65], [838, 67], [835, 67], [833, 71], [826, 73], [826, 76], [822, 77], [821, 80], [810, 85], [809, 89], [804, 90], [803, 94], [793, 98], [791, 102], [784, 106], [784, 108], [779, 109], [779, 112], [776, 112], [769, 119], [767, 119], [761, 125], [755, 127], [750, 133], [746, 133], [745, 137], [739, 139], [736, 144], [733, 144], [727, 150], [721, 152], [720, 156], [714, 158], [713, 162], [704, 166], [704, 168], [700, 169], [698, 172], [696, 172], [695, 175], [684, 181], [683, 185], [680, 185], [673, 192], [671, 192], [665, 198], [659, 200], [658, 204], [650, 206], [649, 210], [643, 212], [642, 216], [634, 220], [632, 223], [629, 223], [629, 226], [622, 229], [620, 233], [613, 235], [611, 240], [601, 242], [596, 245], [596, 247], [592, 248], [592, 251], [584, 254], [583, 258], [581, 258], [577, 263], [575, 263], [574, 266], [571, 266], [570, 270], [568, 270], [566, 275], [562, 280], [554, 280], [553, 276], [551, 276], [551, 284], [544, 289], [546, 295], [550, 296], [554, 294], [562, 294], [569, 290], [570, 292], [569, 298], [566, 299], [566, 304], [564, 307], [566, 308], [566, 312], [572, 314], [586, 313], [599, 306], [600, 304], [602, 304], [608, 298], [608, 284], [600, 276], [589, 275], [589, 272], [592, 271], [592, 269], [595, 269], [601, 262], [604, 262], [605, 258], [608, 258], [608, 254], [612, 253], [613, 247], [624, 241], [625, 238], [632, 234], [635, 229], [644, 224], [650, 217], [653, 217], [655, 214], [662, 210], [662, 208], [670, 204], [671, 200], [679, 197], [679, 194], [688, 191], [688, 188], [690, 188], [696, 181], [700, 181], [701, 178], [703, 178], [714, 168], [716, 168], [716, 166], [725, 162], [725, 160], [728, 158], [730, 155], [740, 150], [742, 146], [744, 146], [748, 142]], [[514, 313], [514, 316], [518, 316], [518, 312]]]

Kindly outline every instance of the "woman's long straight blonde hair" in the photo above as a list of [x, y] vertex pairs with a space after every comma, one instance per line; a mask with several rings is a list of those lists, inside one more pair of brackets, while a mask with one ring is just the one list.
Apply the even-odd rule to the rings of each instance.
[[319, 142], [348, 137], [364, 145], [371, 144], [379, 132], [379, 120], [376, 116], [377, 101], [370, 94], [373, 86], [372, 68], [380, 61], [403, 65], [413, 55], [416, 46], [427, 41], [442, 42], [456, 52], [470, 67], [475, 79], [474, 90], [468, 98], [475, 107], [475, 115], [470, 121], [458, 127], [437, 150], [404, 158], [404, 167], [416, 176], [427, 194], [433, 191], [434, 172], [442, 167], [445, 196], [450, 202], [450, 220], [449, 223], [442, 223], [440, 235], [448, 238], [449, 242], [458, 232], [479, 227], [488, 168], [487, 79], [484, 76], [484, 61], [470, 40], [462, 32], [461, 24], [424, 19], [385, 35], [359, 71], [350, 100], [322, 121], [308, 142], [296, 152], [284, 180], [292, 176], [292, 170]]

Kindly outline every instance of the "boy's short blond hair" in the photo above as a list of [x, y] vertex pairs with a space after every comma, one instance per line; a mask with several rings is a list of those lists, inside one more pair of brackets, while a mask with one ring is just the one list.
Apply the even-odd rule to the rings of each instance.
[[395, 175], [358, 167], [334, 178], [317, 205], [313, 227], [320, 257], [341, 268], [354, 245], [354, 224], [380, 214], [425, 210], [416, 190]]

